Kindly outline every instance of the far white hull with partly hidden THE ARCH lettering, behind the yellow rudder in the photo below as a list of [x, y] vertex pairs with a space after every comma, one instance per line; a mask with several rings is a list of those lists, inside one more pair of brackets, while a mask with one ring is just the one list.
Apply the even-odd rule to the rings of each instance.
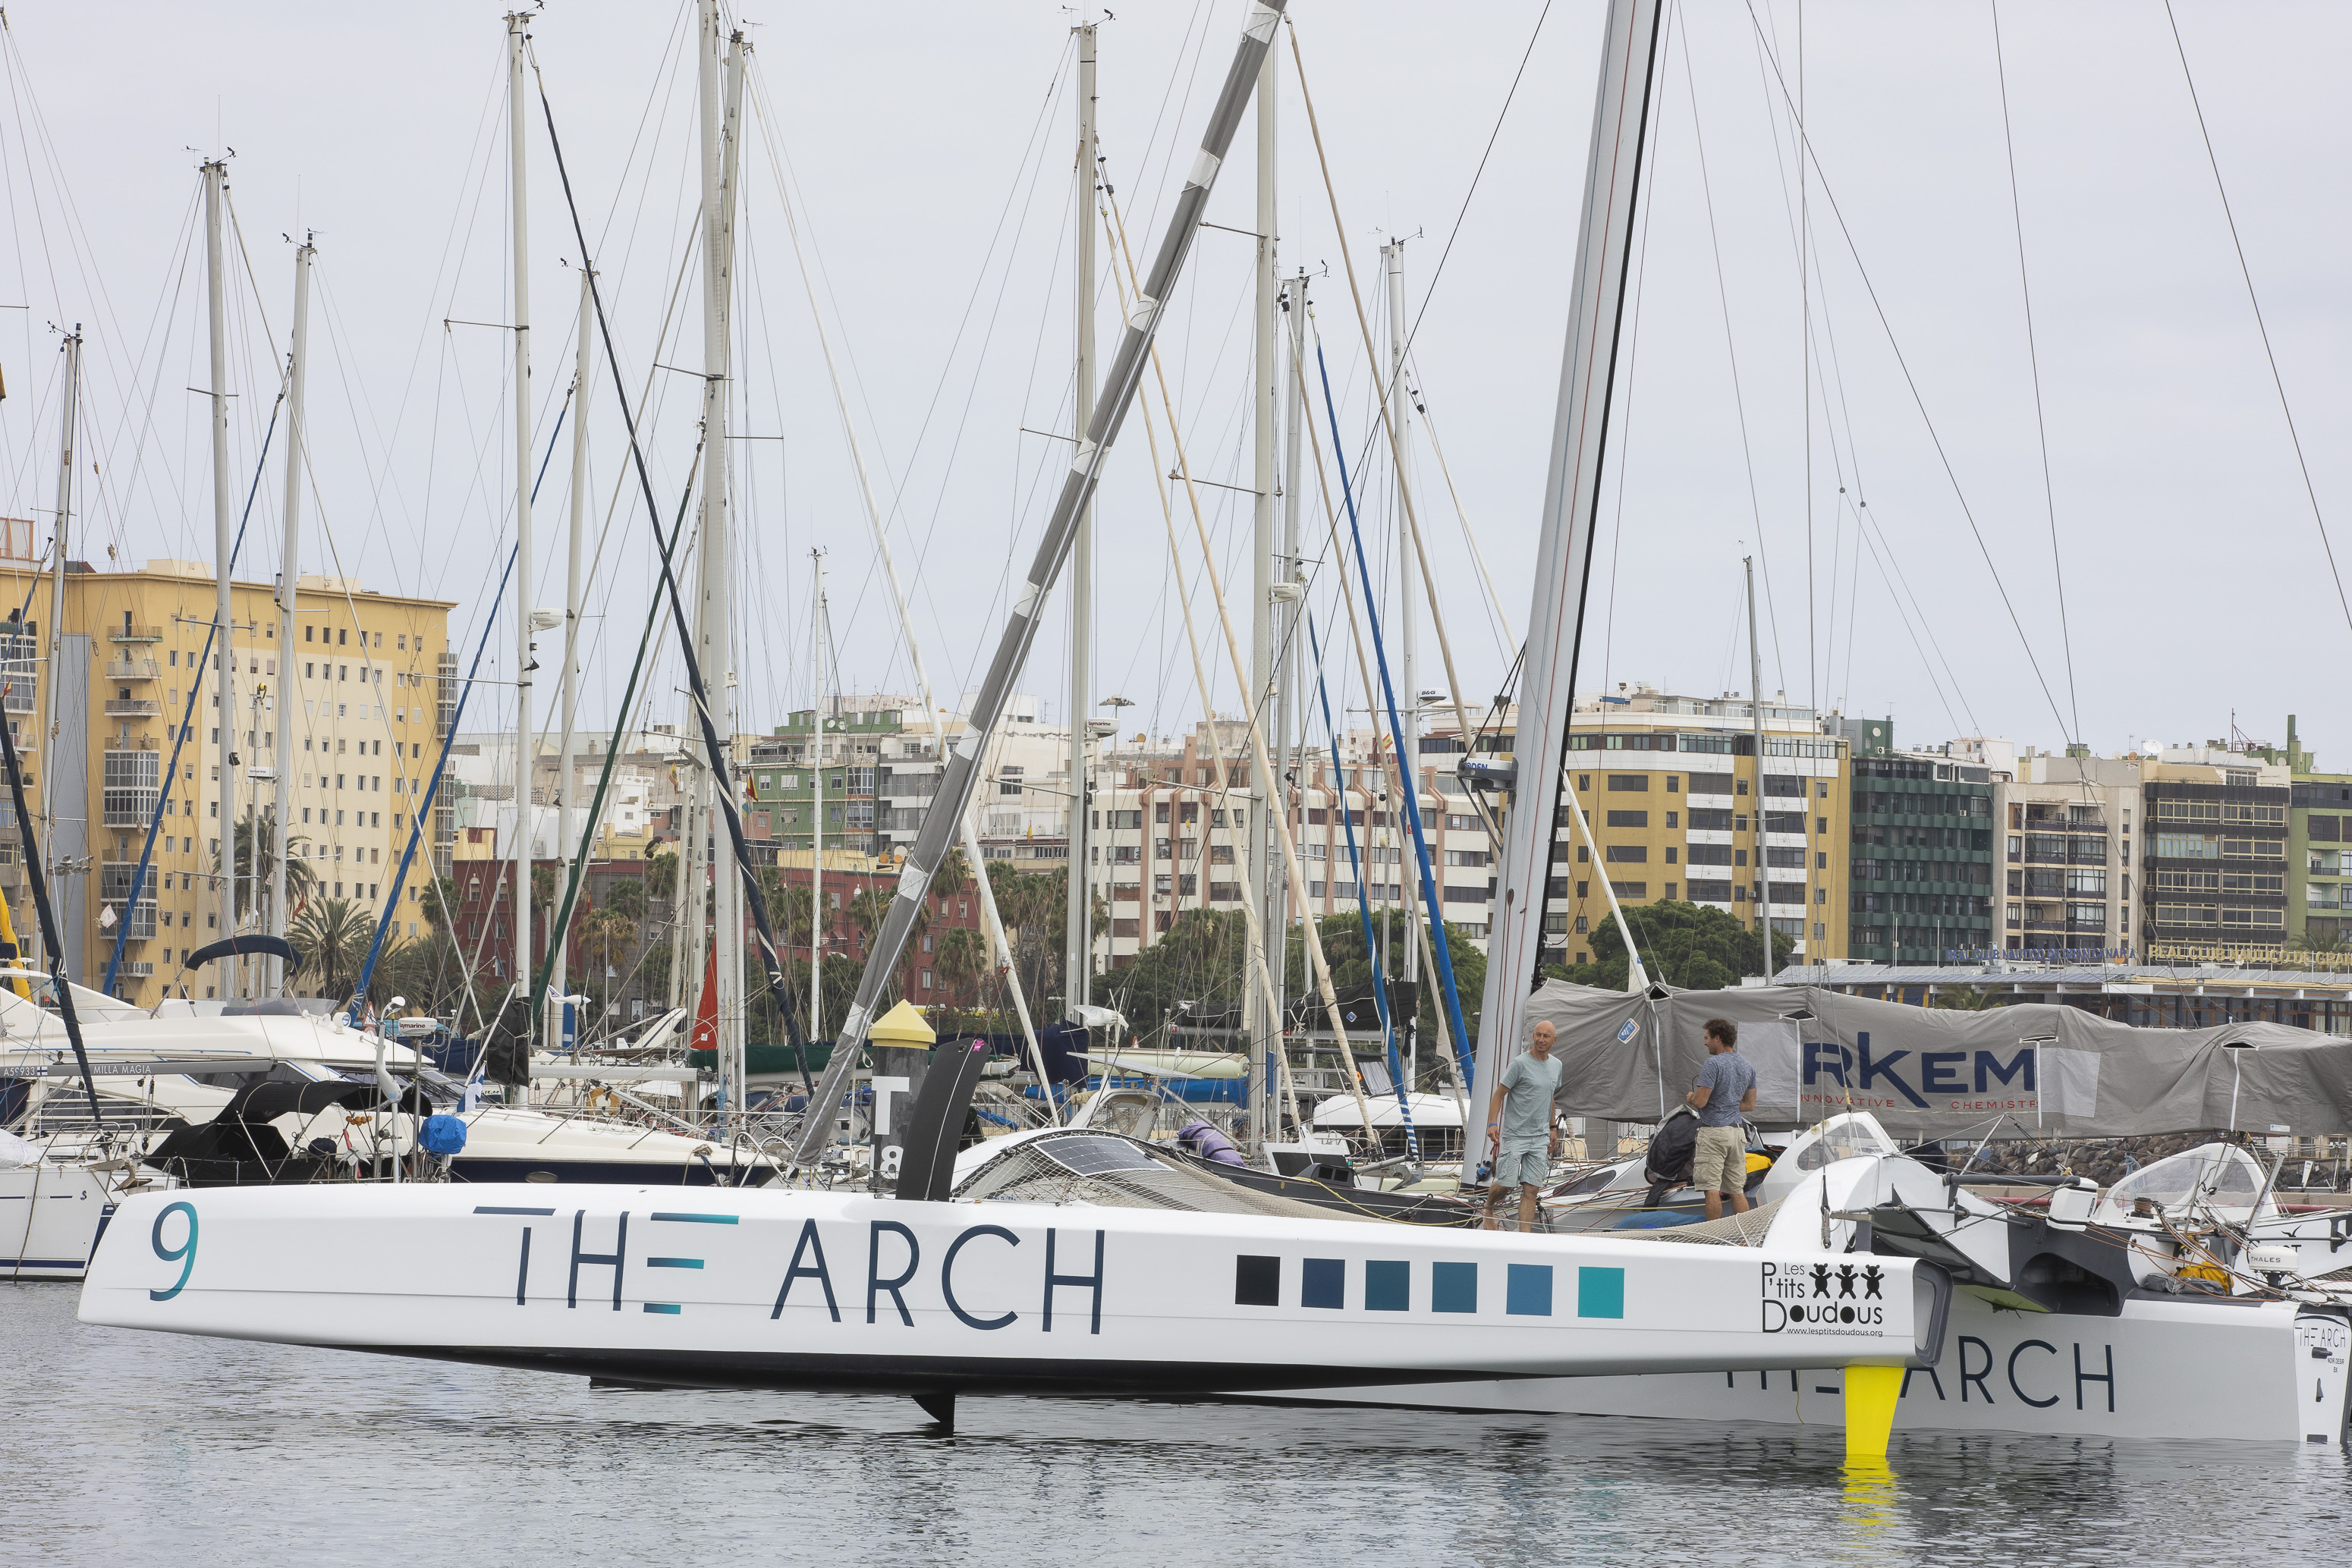
[[[1994, 1309], [1959, 1293], [1940, 1366], [1903, 1378], [1896, 1432], [2345, 1441], [2343, 1319], [2293, 1302], [2131, 1300], [2122, 1316]], [[2321, 1354], [2314, 1354], [2321, 1352]], [[1837, 1368], [1531, 1378], [1301, 1394], [1541, 1415], [1665, 1415], [1839, 1427]]]

